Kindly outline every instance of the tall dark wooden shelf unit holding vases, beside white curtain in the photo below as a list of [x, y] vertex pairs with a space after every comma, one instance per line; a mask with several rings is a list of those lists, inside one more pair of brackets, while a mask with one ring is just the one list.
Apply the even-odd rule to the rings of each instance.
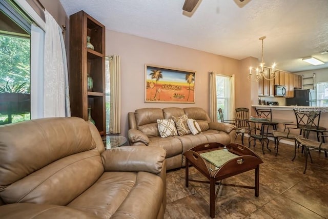
[[84, 11], [70, 16], [69, 75], [72, 116], [92, 121], [91, 115], [105, 135], [105, 26]]

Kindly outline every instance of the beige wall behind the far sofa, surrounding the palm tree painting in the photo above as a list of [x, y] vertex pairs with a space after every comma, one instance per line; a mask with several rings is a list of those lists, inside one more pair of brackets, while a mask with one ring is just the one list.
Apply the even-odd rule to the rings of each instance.
[[[202, 107], [209, 112], [211, 71], [235, 74], [236, 84], [240, 85], [240, 61], [152, 39], [106, 30], [106, 54], [117, 54], [121, 58], [121, 135], [127, 135], [128, 112], [138, 108]], [[144, 103], [145, 64], [196, 71], [195, 104]], [[236, 96], [239, 96], [239, 91]]]

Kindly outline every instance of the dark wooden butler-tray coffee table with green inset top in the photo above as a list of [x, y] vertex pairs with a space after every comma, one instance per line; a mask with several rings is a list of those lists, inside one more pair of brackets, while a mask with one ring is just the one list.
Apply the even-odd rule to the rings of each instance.
[[[210, 184], [210, 216], [212, 218], [215, 216], [215, 200], [221, 185], [254, 189], [255, 196], [258, 197], [259, 170], [263, 161], [249, 148], [236, 143], [231, 143], [226, 147], [220, 143], [206, 143], [193, 147], [183, 155], [186, 156], [186, 187], [189, 186], [189, 181]], [[209, 181], [189, 179], [189, 164], [206, 176]], [[224, 178], [253, 169], [255, 169], [255, 186], [222, 183]], [[215, 185], [218, 185], [216, 191]]]

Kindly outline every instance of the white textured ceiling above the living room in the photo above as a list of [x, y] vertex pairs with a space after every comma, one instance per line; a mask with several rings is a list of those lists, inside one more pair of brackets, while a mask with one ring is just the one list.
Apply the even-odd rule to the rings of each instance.
[[[202, 0], [192, 16], [184, 0], [60, 0], [67, 15], [84, 10], [107, 29], [235, 59], [261, 58], [299, 72], [328, 68], [328, 0]], [[325, 65], [301, 59], [314, 56]]]

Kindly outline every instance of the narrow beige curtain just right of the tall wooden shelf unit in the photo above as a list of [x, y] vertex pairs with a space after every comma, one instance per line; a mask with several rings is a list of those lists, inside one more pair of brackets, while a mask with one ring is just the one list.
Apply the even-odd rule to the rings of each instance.
[[109, 61], [111, 83], [111, 107], [109, 132], [118, 134], [121, 132], [121, 65], [119, 55], [112, 55]]

